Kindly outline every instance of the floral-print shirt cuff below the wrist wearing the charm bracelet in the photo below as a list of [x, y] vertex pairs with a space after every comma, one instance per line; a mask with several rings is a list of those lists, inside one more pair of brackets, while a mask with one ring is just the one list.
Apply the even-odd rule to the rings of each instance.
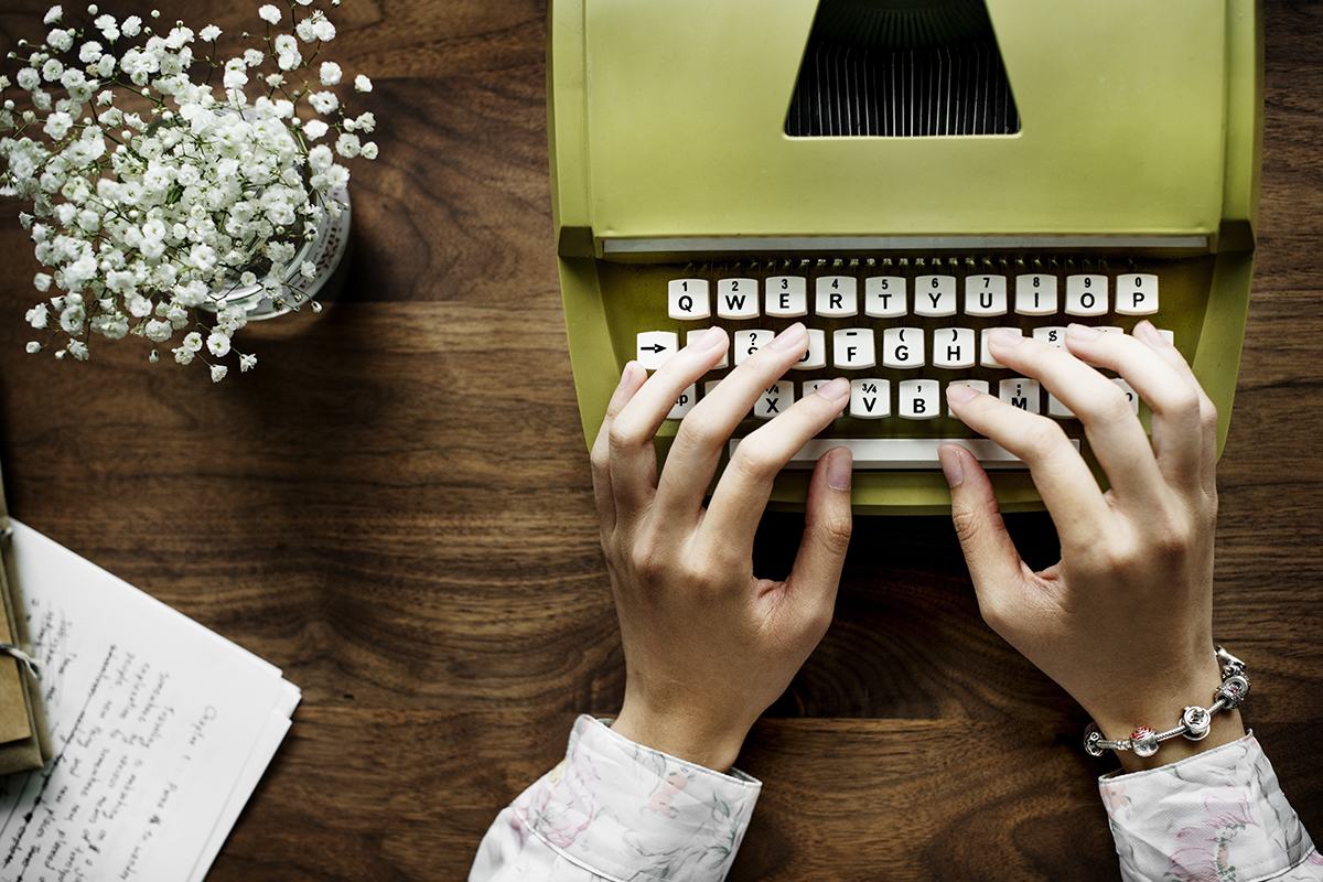
[[1189, 759], [1098, 780], [1121, 877], [1323, 879], [1323, 857], [1253, 733]]

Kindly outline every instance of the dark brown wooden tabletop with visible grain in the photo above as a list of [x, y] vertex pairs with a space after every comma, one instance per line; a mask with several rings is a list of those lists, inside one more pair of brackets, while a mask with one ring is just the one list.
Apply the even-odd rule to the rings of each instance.
[[[237, 33], [255, 5], [163, 19]], [[44, 11], [8, 0], [0, 53]], [[38, 266], [3, 205], [13, 513], [304, 690], [212, 879], [460, 878], [576, 714], [618, 709], [552, 254], [544, 21], [537, 0], [345, 1], [329, 54], [374, 79], [359, 107], [381, 122], [381, 159], [353, 168], [345, 295], [241, 332], [258, 369], [220, 385], [147, 364], [146, 341], [25, 354]], [[1216, 632], [1323, 834], [1323, 9], [1270, 0], [1266, 33]], [[798, 529], [769, 517], [766, 570]], [[740, 760], [765, 789], [730, 878], [1115, 878], [1085, 718], [980, 621], [949, 521], [855, 529], [836, 621]], [[1044, 516], [1013, 530], [1050, 559]]]

